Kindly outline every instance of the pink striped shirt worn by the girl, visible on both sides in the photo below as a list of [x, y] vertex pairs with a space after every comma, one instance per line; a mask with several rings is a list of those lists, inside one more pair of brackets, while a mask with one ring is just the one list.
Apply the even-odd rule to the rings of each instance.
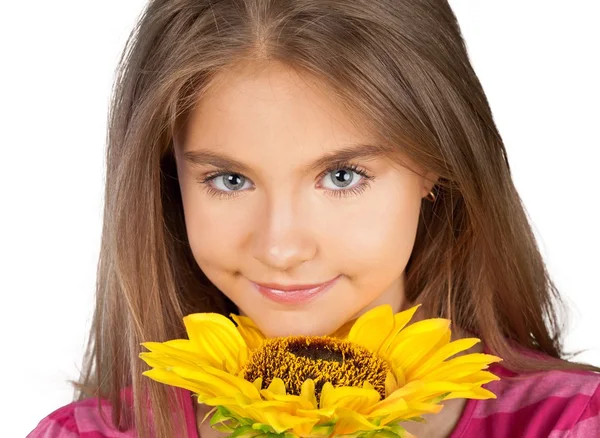
[[[468, 400], [449, 438], [592, 438], [600, 437], [600, 374], [583, 371], [547, 371], [524, 380], [503, 377], [513, 373], [498, 364], [490, 366], [502, 379], [485, 388], [492, 400]], [[131, 400], [131, 388], [123, 394]], [[188, 438], [199, 438], [194, 399], [178, 388]], [[72, 402], [42, 419], [27, 438], [129, 438], [134, 431], [118, 432], [105, 425], [96, 399]], [[102, 400], [107, 418], [110, 406]]]

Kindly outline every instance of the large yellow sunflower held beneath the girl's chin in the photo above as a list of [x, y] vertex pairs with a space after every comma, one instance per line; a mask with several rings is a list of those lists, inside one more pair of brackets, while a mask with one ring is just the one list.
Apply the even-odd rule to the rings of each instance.
[[485, 370], [501, 360], [452, 357], [479, 339], [451, 341], [448, 319], [409, 324], [418, 307], [382, 305], [330, 336], [276, 338], [248, 317], [195, 313], [183, 318], [189, 339], [141, 344], [152, 367], [142, 374], [193, 392], [235, 437], [406, 437], [400, 423], [442, 400], [495, 398], [482, 385], [498, 380]]

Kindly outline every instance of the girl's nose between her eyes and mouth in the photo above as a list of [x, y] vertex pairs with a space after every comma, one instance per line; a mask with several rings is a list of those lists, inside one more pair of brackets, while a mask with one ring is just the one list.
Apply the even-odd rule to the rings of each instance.
[[267, 268], [293, 270], [315, 256], [310, 210], [297, 198], [282, 194], [267, 200], [254, 232], [252, 252]]

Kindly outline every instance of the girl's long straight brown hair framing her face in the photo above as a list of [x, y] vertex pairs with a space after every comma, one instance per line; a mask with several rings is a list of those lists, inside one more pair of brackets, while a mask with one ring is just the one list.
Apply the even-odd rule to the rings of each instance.
[[[409, 300], [482, 338], [507, 368], [598, 370], [565, 360], [560, 297], [446, 1], [151, 0], [115, 78], [96, 308], [76, 399], [109, 399], [115, 424], [133, 418], [146, 437], [149, 396], [152, 428], [178, 436], [172, 388], [141, 375], [140, 343], [186, 337], [186, 314], [237, 309], [192, 256], [173, 139], [219, 72], [266, 62], [322, 80], [382, 141], [439, 175], [406, 266]], [[133, 417], [119, 399], [129, 385]]]

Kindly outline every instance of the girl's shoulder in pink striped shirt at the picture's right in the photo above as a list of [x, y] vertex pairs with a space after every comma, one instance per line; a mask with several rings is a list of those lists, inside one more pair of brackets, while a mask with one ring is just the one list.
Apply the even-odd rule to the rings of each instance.
[[490, 429], [485, 436], [600, 436], [599, 373], [497, 371], [501, 379], [486, 386], [497, 398], [476, 403], [471, 418], [472, 427]]

